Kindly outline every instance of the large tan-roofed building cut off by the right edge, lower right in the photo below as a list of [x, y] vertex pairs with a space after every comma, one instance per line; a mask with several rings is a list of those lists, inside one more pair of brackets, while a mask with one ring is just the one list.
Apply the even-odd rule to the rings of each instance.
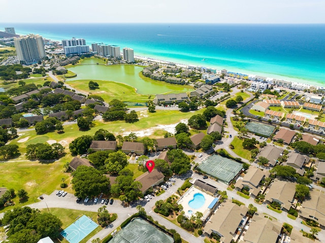
[[325, 228], [325, 194], [323, 191], [313, 189], [308, 198], [305, 198], [300, 207], [300, 217], [311, 219]]

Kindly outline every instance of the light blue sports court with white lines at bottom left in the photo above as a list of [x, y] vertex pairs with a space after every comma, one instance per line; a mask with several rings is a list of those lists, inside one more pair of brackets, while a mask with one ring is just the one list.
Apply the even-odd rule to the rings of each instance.
[[83, 215], [73, 224], [69, 225], [68, 228], [62, 230], [60, 235], [66, 238], [70, 243], [79, 243], [97, 227], [98, 224]]

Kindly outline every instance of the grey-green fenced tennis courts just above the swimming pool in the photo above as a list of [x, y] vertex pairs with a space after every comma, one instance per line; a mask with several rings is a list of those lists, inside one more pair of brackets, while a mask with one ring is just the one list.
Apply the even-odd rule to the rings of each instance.
[[203, 161], [199, 168], [204, 173], [229, 184], [242, 169], [242, 165], [234, 160], [213, 154]]

